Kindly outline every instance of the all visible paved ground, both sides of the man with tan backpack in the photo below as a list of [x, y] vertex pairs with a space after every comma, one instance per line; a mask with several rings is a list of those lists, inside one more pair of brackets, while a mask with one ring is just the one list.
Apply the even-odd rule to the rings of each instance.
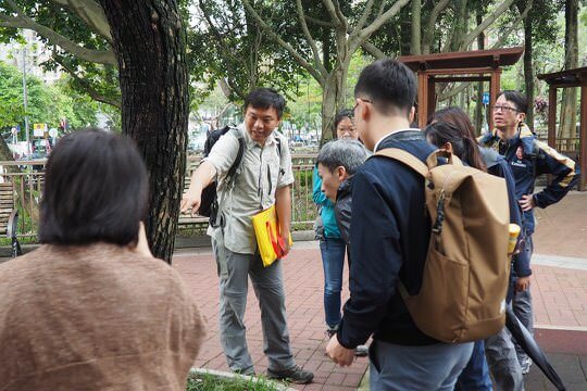
[[[535, 234], [535, 253], [540, 260], [548, 255], [574, 257], [582, 269], [533, 265], [532, 279], [535, 303], [535, 323], [538, 328], [572, 328], [579, 331], [575, 337], [563, 336], [569, 344], [571, 338], [585, 341], [587, 330], [587, 193], [572, 193], [561, 203], [537, 211], [538, 227]], [[578, 260], [577, 260], [578, 258]], [[585, 267], [582, 263], [585, 261]], [[554, 262], [557, 264], [557, 262]], [[208, 318], [208, 335], [196, 366], [228, 370], [220, 345], [217, 331], [218, 292], [216, 268], [208, 250], [183, 250], [174, 257], [176, 267], [200, 302], [200, 310]], [[336, 367], [324, 355], [323, 272], [320, 251], [313, 242], [298, 243], [284, 263], [286, 307], [291, 346], [297, 364], [313, 370], [314, 383], [297, 387], [299, 390], [354, 390], [367, 368], [366, 358], [358, 358], [350, 368]], [[346, 279], [346, 278], [345, 278]], [[347, 287], [344, 287], [345, 292]], [[347, 294], [347, 293], [346, 293]], [[346, 300], [346, 297], [344, 298]], [[266, 370], [262, 353], [260, 314], [252, 291], [248, 295], [246, 325], [248, 341], [257, 373]], [[554, 352], [555, 367], [563, 366], [564, 376], [572, 377], [570, 389], [587, 390], [585, 373], [582, 371], [587, 352], [564, 355], [557, 338], [560, 335], [537, 330], [537, 338], [545, 341], [547, 352]], [[571, 343], [571, 345], [573, 345]], [[583, 345], [583, 343], [580, 344]], [[560, 352], [560, 353], [559, 353]], [[567, 363], [564, 364], [564, 363]], [[572, 363], [571, 363], [572, 362]], [[582, 364], [583, 363], [583, 364]], [[575, 369], [570, 369], [575, 368]], [[561, 369], [559, 369], [562, 371]], [[567, 374], [569, 373], [569, 374]], [[578, 380], [577, 380], [578, 379]], [[528, 390], [549, 389], [538, 370], [533, 367]], [[532, 386], [532, 387], [530, 387]]]

